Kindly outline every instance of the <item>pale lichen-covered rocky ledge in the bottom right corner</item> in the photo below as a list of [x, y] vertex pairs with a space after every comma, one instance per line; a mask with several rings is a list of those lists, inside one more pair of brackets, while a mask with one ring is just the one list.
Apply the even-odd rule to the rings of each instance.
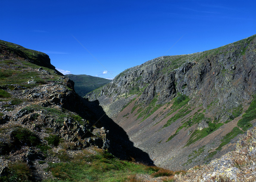
[[256, 127], [247, 131], [246, 136], [228, 152], [207, 165], [188, 170], [186, 175], [175, 175], [177, 182], [231, 182], [256, 181]]

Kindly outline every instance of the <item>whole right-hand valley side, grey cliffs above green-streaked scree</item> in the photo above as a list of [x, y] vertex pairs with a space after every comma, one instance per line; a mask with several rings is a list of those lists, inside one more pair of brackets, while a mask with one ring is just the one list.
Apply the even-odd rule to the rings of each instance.
[[[235, 147], [256, 118], [256, 35], [162, 56], [90, 92], [154, 164], [188, 169]], [[248, 109], [249, 108], [249, 109]]]

